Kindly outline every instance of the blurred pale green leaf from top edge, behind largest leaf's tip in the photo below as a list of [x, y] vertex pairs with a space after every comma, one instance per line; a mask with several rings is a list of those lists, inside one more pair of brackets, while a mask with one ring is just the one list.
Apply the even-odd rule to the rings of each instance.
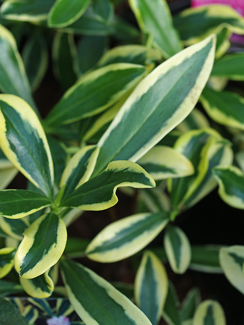
[[150, 34], [154, 45], [168, 58], [182, 50], [169, 7], [165, 0], [130, 0], [142, 32]]

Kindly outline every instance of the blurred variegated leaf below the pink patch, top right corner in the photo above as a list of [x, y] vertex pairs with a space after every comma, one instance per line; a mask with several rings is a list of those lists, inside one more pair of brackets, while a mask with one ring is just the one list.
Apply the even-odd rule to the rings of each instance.
[[244, 34], [244, 18], [230, 6], [222, 4], [186, 9], [174, 18], [174, 25], [185, 45], [199, 42], [223, 28]]

